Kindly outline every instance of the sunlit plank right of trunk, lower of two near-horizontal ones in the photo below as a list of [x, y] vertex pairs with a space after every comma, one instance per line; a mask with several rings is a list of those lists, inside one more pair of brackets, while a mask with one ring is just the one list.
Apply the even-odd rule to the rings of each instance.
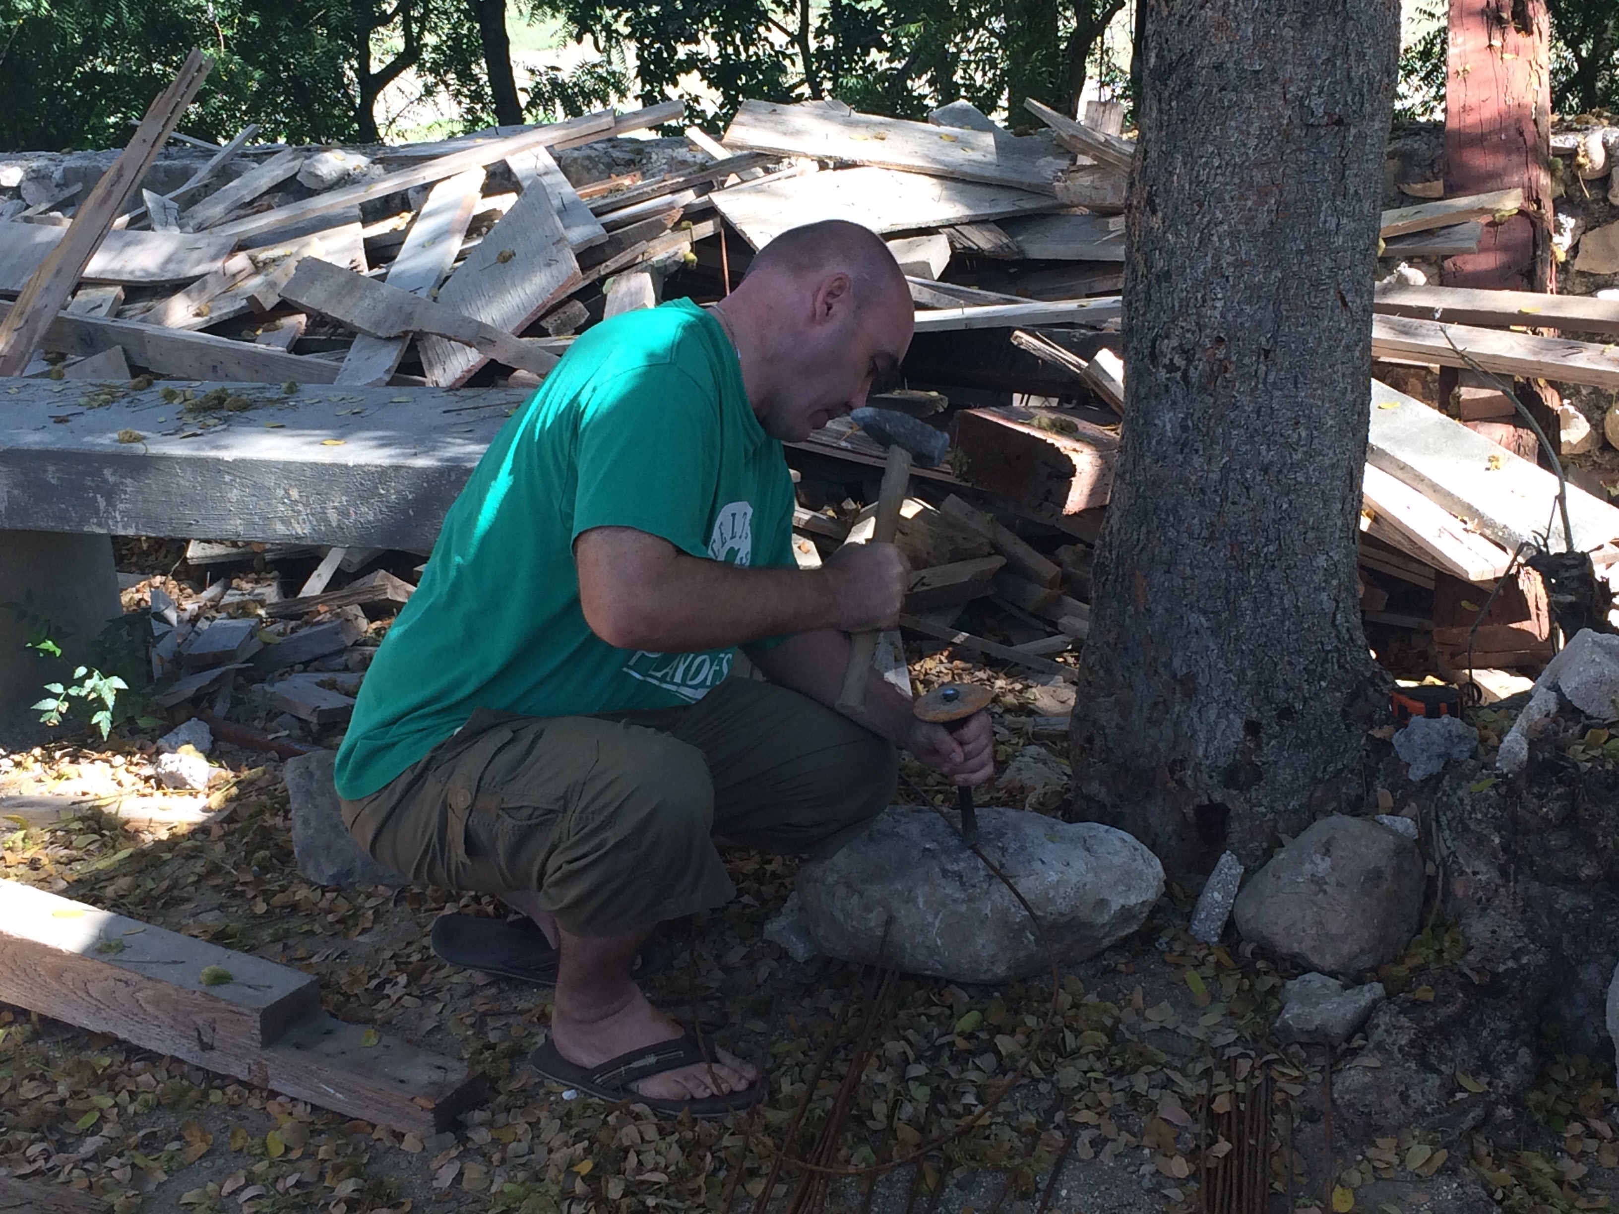
[[1619, 388], [1619, 350], [1613, 345], [1412, 320], [1404, 316], [1371, 317], [1371, 356], [1413, 358], [1444, 367], [1465, 367], [1472, 359], [1498, 376]]

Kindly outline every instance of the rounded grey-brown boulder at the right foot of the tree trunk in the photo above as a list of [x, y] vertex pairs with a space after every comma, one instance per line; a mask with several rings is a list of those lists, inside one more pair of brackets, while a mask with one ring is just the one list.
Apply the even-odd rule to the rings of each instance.
[[1237, 895], [1237, 931], [1324, 973], [1392, 961], [1417, 934], [1423, 864], [1417, 847], [1365, 817], [1313, 822]]

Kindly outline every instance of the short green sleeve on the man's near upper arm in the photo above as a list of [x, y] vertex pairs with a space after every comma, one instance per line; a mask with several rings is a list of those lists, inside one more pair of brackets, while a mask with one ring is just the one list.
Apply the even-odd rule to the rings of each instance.
[[670, 366], [644, 366], [591, 392], [580, 418], [573, 539], [635, 528], [708, 555], [719, 474], [719, 401]]

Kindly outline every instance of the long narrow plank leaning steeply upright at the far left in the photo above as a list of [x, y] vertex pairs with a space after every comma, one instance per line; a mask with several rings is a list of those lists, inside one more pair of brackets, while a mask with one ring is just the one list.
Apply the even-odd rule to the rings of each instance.
[[141, 185], [212, 66], [214, 60], [206, 58], [201, 50], [186, 57], [175, 83], [152, 102], [130, 144], [74, 212], [66, 235], [29, 277], [16, 306], [0, 320], [0, 376], [15, 376], [28, 366], [57, 312], [73, 295], [84, 267], [107, 238], [113, 219]]

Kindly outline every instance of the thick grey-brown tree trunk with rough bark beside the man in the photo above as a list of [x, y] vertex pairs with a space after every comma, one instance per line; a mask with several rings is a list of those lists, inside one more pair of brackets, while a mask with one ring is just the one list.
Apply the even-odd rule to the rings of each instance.
[[1396, 0], [1143, 0], [1125, 424], [1077, 808], [1172, 871], [1353, 790], [1387, 712], [1355, 534]]

